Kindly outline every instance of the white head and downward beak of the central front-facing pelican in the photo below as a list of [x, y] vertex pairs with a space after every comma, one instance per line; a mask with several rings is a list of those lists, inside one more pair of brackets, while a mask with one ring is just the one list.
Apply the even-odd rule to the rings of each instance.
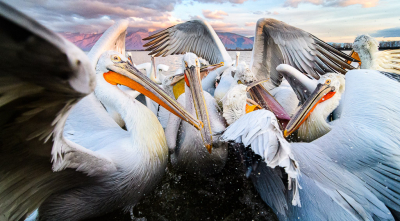
[[[190, 89], [190, 93], [188, 94], [192, 96], [197, 118], [204, 124], [200, 130], [204, 146], [211, 153], [211, 124], [201, 86], [200, 62], [197, 56], [193, 53], [186, 53], [182, 58], [182, 69], [184, 70], [186, 86]], [[186, 90], [186, 92], [189, 91]]]

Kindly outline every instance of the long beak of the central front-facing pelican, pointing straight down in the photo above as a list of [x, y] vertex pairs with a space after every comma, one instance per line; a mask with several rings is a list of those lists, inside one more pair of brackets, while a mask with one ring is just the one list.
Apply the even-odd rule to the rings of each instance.
[[203, 139], [204, 146], [207, 148], [208, 152], [211, 153], [212, 131], [206, 101], [203, 95], [203, 88], [201, 86], [200, 68], [196, 66], [187, 67], [185, 69], [185, 81], [192, 94], [197, 119], [204, 123], [204, 127], [200, 130], [201, 138]]

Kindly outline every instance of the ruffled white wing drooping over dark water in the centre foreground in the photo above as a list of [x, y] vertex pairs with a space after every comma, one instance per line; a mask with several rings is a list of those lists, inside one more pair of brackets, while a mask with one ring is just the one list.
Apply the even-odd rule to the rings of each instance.
[[[221, 139], [249, 146], [271, 168], [276, 166], [285, 168], [285, 172], [289, 175], [289, 183], [294, 185], [293, 204], [300, 204], [297, 181], [300, 171], [291, 153], [290, 144], [283, 138], [278, 121], [272, 112], [257, 110], [242, 116], [226, 129]], [[274, 182], [274, 185], [280, 186], [277, 182]], [[280, 213], [284, 213], [283, 208], [286, 203], [282, 202], [286, 201], [286, 198], [283, 192], [276, 189], [271, 191], [275, 191], [277, 195], [267, 203], [277, 208]]]

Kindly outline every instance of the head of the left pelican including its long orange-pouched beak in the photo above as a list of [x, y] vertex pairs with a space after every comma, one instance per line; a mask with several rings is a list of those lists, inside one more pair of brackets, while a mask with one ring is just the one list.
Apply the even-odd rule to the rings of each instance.
[[105, 85], [110, 90], [99, 91], [97, 87], [97, 90], [95, 90], [96, 95], [101, 94], [100, 96], [102, 97], [111, 97], [111, 91], [118, 89], [118, 87], [113, 87], [113, 85], [124, 85], [159, 103], [171, 113], [192, 124], [197, 129], [202, 127], [202, 123], [199, 120], [187, 113], [175, 99], [168, 96], [156, 83], [137, 70], [129, 62], [129, 59], [122, 54], [116, 51], [104, 52], [97, 62], [96, 74], [97, 82]]

